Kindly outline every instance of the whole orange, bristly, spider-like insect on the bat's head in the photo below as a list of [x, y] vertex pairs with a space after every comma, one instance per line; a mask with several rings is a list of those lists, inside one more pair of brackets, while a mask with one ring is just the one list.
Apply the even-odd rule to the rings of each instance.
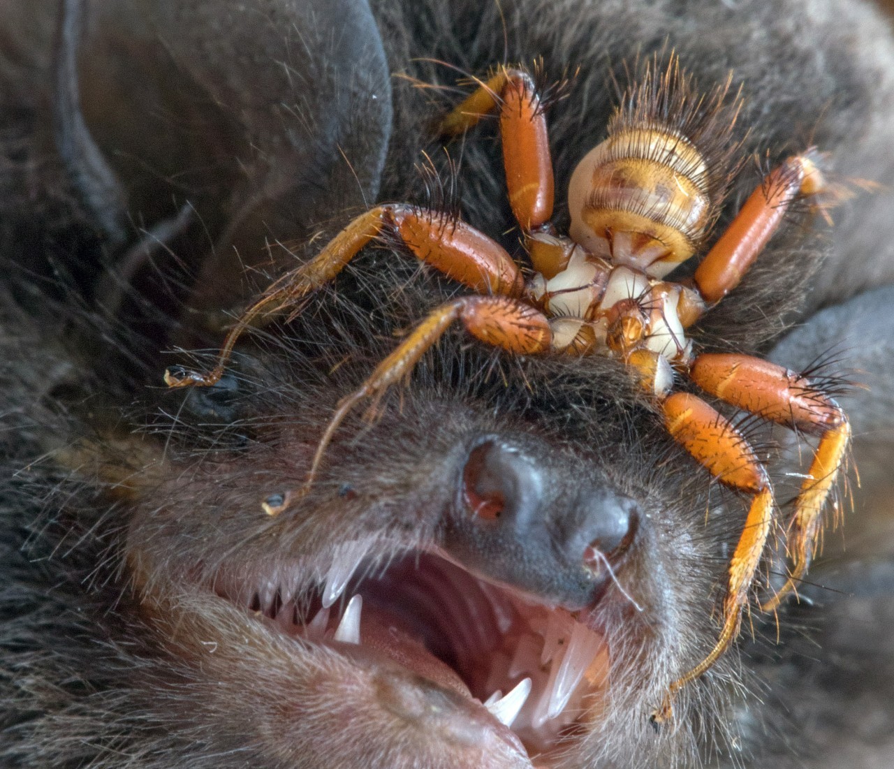
[[[502, 67], [446, 116], [442, 131], [460, 134], [485, 114], [499, 113], [510, 206], [532, 267], [527, 279], [501, 245], [459, 219], [409, 204], [379, 205], [350, 222], [316, 258], [274, 283], [233, 327], [213, 371], [165, 372], [172, 387], [214, 385], [249, 325], [283, 312], [294, 317], [308, 294], [333, 281], [384, 235], [396, 236], [410, 254], [473, 293], [434, 309], [342, 399], [317, 446], [308, 486], [350, 410], [380, 398], [408, 376], [453, 324], [517, 355], [620, 361], [674, 440], [722, 484], [750, 499], [730, 559], [719, 638], [700, 663], [671, 683], [654, 713], [656, 723], [671, 717], [676, 692], [707, 671], [737, 638], [776, 520], [763, 461], [729, 418], [689, 390], [819, 438], [788, 522], [789, 579], [762, 605], [765, 611], [774, 610], [804, 576], [850, 441], [848, 418], [821, 385], [763, 359], [699, 352], [687, 338], [687, 330], [736, 289], [792, 204], [806, 199], [821, 207], [828, 192], [817, 153], [790, 156], [765, 175], [726, 230], [713, 238], [739, 149], [732, 139], [739, 99], [729, 91], [728, 81], [700, 93], [675, 58], [665, 69], [654, 60], [621, 98], [607, 138], [572, 174], [570, 227], [562, 235], [551, 223], [553, 171], [544, 101], [527, 70]], [[693, 258], [700, 258], [694, 275], [675, 280], [674, 269]], [[265, 509], [275, 514], [288, 503], [268, 501]]]

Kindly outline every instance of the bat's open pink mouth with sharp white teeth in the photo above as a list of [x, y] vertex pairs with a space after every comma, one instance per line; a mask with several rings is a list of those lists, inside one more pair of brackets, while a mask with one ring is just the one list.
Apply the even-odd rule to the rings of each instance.
[[532, 756], [573, 737], [598, 709], [609, 649], [581, 621], [586, 613], [481, 579], [443, 554], [415, 551], [377, 565], [362, 552], [339, 548], [310, 596], [290, 587], [287, 570], [257, 581], [221, 576], [215, 591], [360, 665], [401, 665], [445, 690], [469, 723], [519, 749], [520, 739]]

